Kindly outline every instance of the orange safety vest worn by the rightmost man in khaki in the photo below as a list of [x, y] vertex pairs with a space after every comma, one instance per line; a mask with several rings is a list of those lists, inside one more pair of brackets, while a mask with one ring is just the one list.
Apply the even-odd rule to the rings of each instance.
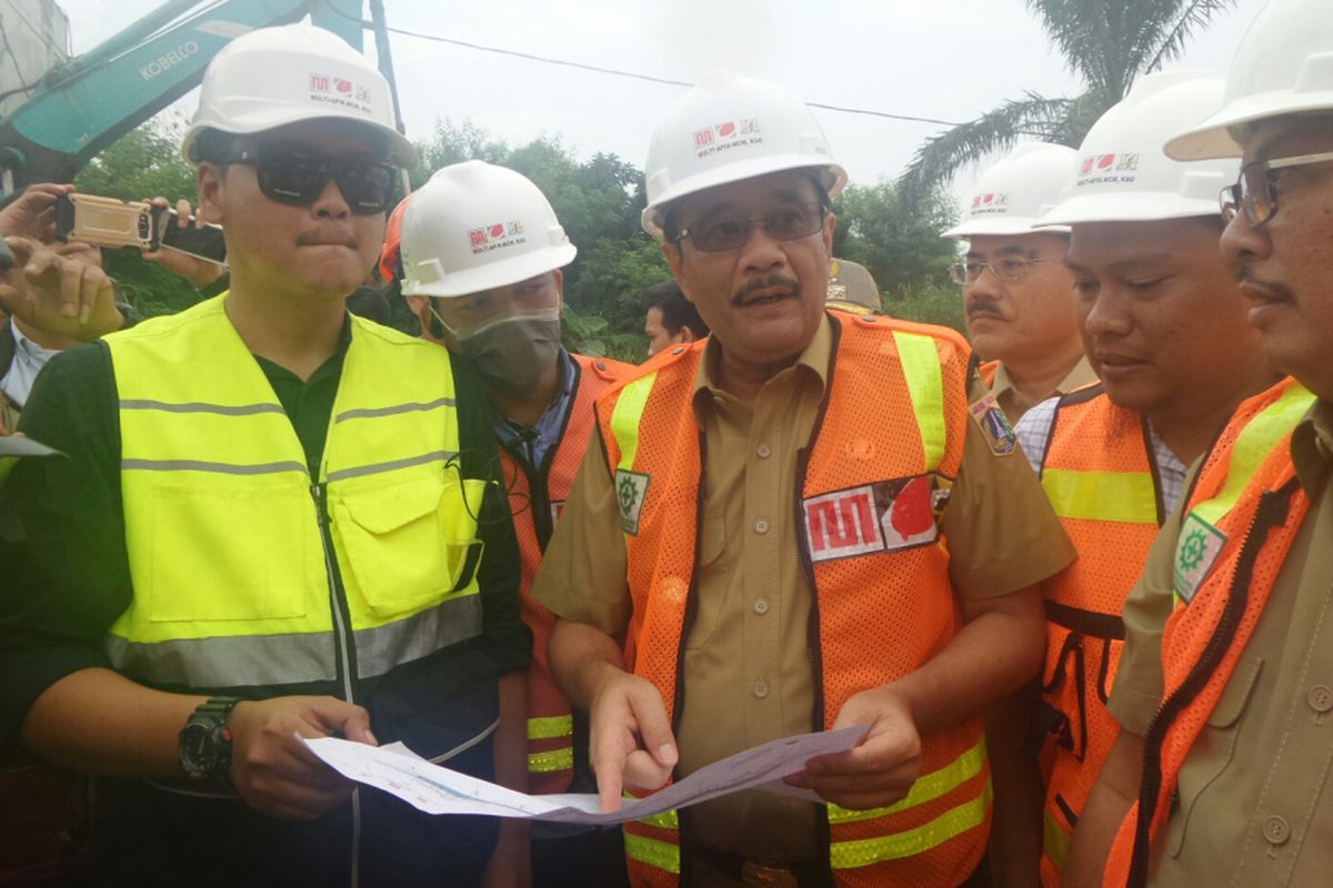
[[1309, 510], [1290, 439], [1313, 402], [1290, 378], [1245, 401], [1200, 470], [1176, 547], [1177, 604], [1162, 631], [1162, 703], [1145, 738], [1138, 801], [1106, 861], [1106, 885], [1148, 884], [1152, 841], [1170, 815], [1180, 768]]

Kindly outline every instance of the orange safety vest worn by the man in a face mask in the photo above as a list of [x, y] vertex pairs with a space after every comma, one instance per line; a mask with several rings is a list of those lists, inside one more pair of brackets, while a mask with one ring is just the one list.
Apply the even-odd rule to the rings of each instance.
[[528, 670], [528, 791], [532, 793], [565, 792], [573, 779], [575, 720], [572, 707], [560, 692], [547, 667], [547, 642], [556, 618], [532, 598], [532, 578], [541, 566], [556, 519], [565, 506], [569, 487], [592, 435], [593, 399], [612, 382], [633, 367], [616, 361], [575, 359], [573, 401], [565, 415], [560, 439], [547, 451], [541, 466], [532, 466], [500, 447], [504, 478], [509, 485], [509, 509], [519, 537], [521, 578], [519, 598], [523, 620], [532, 628], [532, 667]]

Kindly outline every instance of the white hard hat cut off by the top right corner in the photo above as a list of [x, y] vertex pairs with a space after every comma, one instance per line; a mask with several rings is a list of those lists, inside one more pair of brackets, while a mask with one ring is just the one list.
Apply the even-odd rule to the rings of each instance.
[[1272, 0], [1236, 52], [1221, 108], [1172, 138], [1166, 153], [1240, 157], [1236, 128], [1310, 112], [1333, 112], [1333, 8], [1328, 0]]

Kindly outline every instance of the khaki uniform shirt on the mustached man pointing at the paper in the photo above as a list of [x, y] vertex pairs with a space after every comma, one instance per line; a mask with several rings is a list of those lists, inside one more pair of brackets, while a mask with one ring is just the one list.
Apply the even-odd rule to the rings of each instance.
[[[806, 636], [810, 590], [798, 564], [792, 497], [796, 454], [814, 426], [832, 349], [825, 320], [753, 407], [713, 385], [716, 339], [700, 362], [693, 406], [708, 442], [706, 489], [698, 612], [685, 640], [688, 692], [676, 736], [682, 775], [817, 727]], [[1022, 454], [994, 457], [972, 426], [942, 530], [954, 588], [985, 598], [1058, 572], [1073, 560], [1073, 549]], [[532, 594], [564, 619], [616, 635], [628, 624], [631, 599], [624, 530], [603, 453], [595, 437]], [[690, 841], [768, 861], [814, 860], [817, 815], [809, 801], [766, 792], [733, 793], [681, 812]]]

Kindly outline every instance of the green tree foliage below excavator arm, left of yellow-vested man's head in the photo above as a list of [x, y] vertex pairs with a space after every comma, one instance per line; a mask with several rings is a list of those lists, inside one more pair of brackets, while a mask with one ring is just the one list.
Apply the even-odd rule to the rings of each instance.
[[[85, 194], [136, 201], [181, 197], [197, 200], [195, 168], [180, 156], [180, 141], [144, 124], [97, 154], [75, 178]], [[103, 250], [107, 273], [143, 314], [180, 312], [199, 301], [199, 292], [171, 272], [145, 262], [139, 250]]]

